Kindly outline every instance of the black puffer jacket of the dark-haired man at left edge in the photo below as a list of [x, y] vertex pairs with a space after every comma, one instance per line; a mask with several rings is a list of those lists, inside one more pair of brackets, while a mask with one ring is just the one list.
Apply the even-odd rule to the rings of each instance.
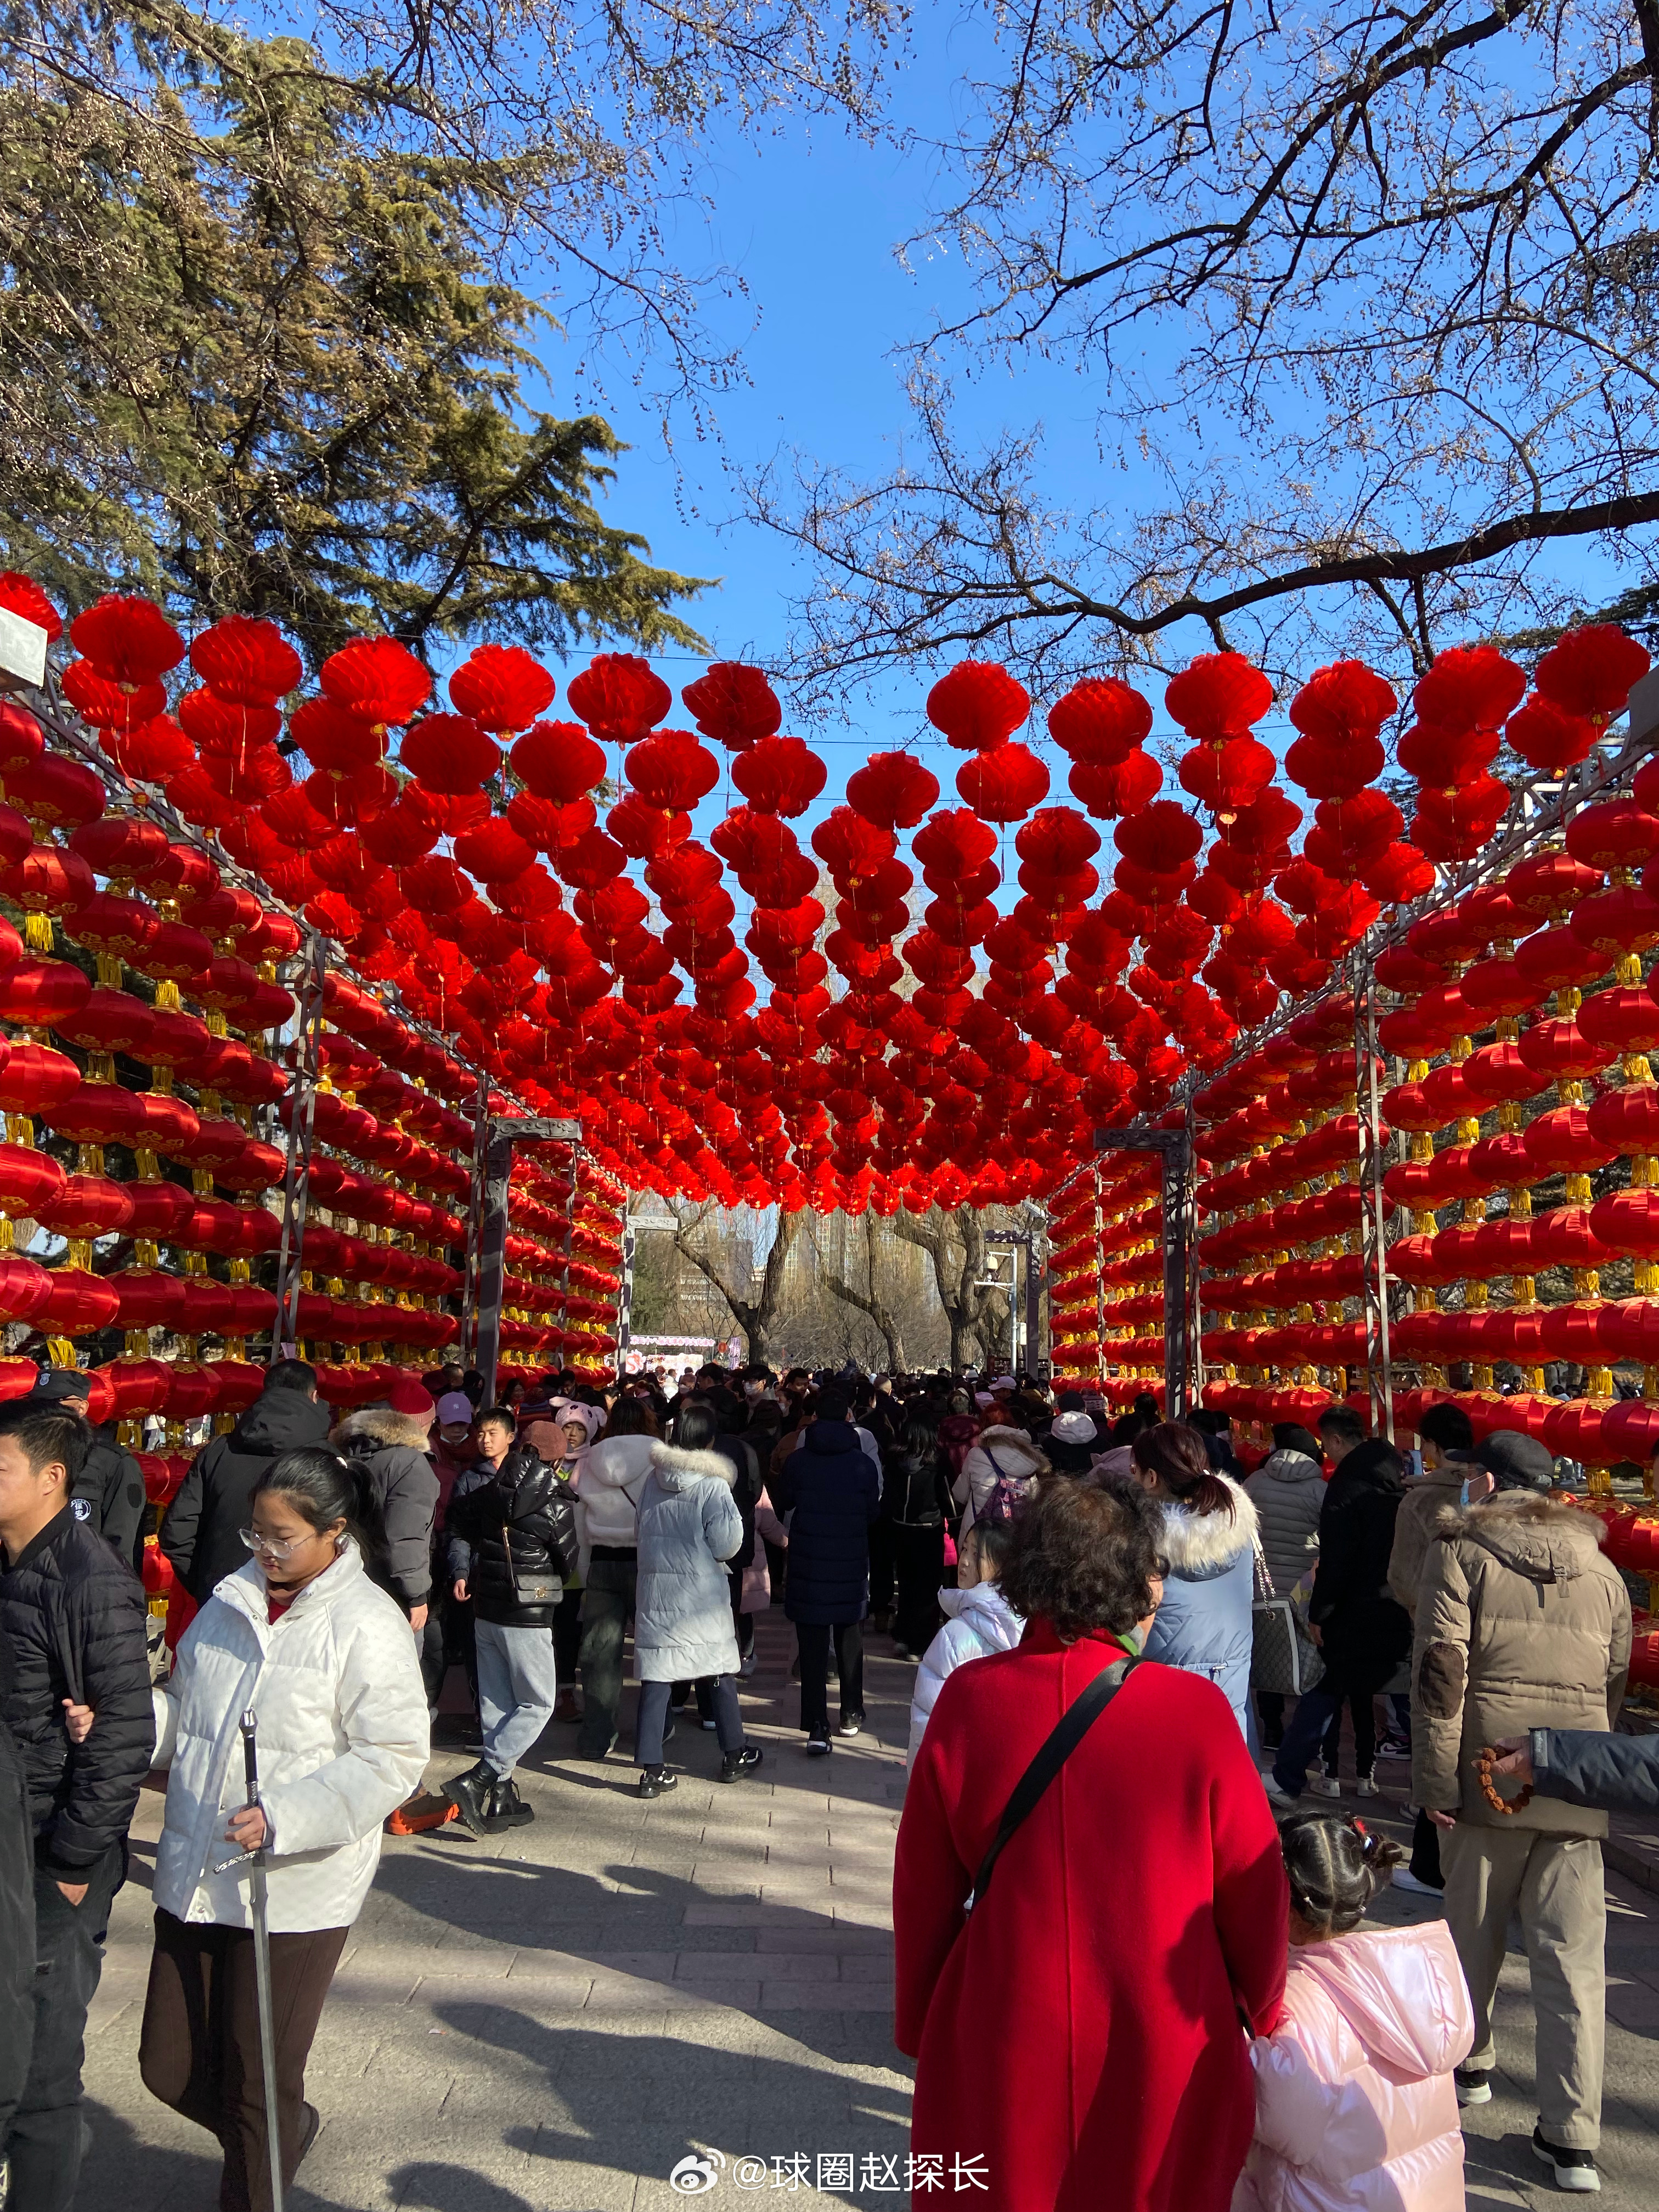
[[[0, 1573], [0, 1637], [13, 1668], [2, 1717], [29, 1778], [35, 1856], [82, 1876], [126, 1836], [155, 1752], [144, 1588], [64, 1506]], [[97, 1714], [86, 1743], [69, 1741], [66, 1697]]]

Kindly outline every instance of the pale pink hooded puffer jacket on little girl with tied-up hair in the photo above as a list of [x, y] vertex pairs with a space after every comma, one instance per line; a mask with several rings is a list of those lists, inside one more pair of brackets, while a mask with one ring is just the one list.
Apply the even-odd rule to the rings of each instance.
[[1462, 2212], [1451, 2068], [1473, 2033], [1444, 1920], [1294, 1949], [1283, 2017], [1252, 2046], [1232, 2212]]

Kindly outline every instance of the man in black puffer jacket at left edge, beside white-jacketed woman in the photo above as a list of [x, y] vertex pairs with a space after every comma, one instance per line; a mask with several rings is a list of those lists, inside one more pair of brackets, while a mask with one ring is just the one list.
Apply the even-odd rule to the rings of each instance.
[[[86, 1422], [51, 1402], [0, 1405], [0, 1637], [4, 1723], [22, 1754], [35, 1838], [29, 2075], [4, 2154], [11, 2201], [69, 2212], [82, 2161], [80, 2066], [104, 1933], [126, 1876], [126, 1829], [155, 1752], [144, 1590], [71, 1511]], [[97, 1725], [75, 1745], [66, 1705]]]

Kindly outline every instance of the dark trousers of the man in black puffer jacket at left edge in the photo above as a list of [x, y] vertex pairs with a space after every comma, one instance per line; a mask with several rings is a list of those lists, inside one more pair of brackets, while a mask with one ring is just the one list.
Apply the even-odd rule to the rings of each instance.
[[7, 2203], [18, 2212], [69, 2212], [75, 2201], [86, 2006], [104, 1971], [111, 1900], [124, 1880], [126, 1847], [119, 1843], [88, 1869], [80, 1905], [71, 1905], [49, 1874], [35, 1871], [33, 2042], [4, 2143], [11, 2161]]

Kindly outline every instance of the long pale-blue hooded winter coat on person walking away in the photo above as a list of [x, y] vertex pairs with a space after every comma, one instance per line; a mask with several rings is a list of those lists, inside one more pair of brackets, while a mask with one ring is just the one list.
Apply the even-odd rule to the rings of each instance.
[[737, 1469], [721, 1451], [650, 1447], [639, 1498], [639, 1579], [633, 1650], [639, 1681], [697, 1681], [737, 1672], [732, 1582], [726, 1562], [743, 1542], [732, 1498]]

